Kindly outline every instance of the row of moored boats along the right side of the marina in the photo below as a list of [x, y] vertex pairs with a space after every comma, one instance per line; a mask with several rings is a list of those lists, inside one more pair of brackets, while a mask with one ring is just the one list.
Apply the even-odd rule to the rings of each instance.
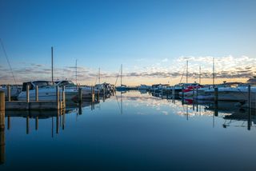
[[[254, 78], [255, 79], [255, 78]], [[176, 98], [185, 98], [187, 100], [213, 101], [216, 96], [215, 88], [218, 88], [218, 101], [238, 101], [243, 106], [255, 108], [256, 103], [256, 84], [251, 82], [223, 82], [218, 85], [200, 85], [194, 83], [181, 83], [178, 85], [141, 85], [138, 87], [141, 91], [150, 91], [152, 93], [171, 94]]]

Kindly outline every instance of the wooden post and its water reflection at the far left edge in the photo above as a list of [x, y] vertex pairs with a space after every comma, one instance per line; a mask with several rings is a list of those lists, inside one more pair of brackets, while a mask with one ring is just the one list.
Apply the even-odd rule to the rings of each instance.
[[5, 105], [5, 93], [0, 91], [0, 165], [6, 161]]

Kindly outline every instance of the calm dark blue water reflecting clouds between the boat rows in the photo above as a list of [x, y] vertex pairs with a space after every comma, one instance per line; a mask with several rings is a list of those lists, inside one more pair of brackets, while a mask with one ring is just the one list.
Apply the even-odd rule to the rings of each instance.
[[80, 114], [6, 112], [0, 170], [255, 170], [255, 116], [232, 106], [129, 92]]

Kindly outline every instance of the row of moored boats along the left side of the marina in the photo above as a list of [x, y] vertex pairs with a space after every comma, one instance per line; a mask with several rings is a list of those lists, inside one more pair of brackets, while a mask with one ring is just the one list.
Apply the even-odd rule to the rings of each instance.
[[[30, 98], [34, 99], [36, 96], [36, 87], [38, 87], [38, 98], [39, 100], [55, 100], [56, 99], [56, 87], [60, 87], [59, 91], [62, 92], [61, 87], [65, 86], [65, 95], [66, 101], [78, 101], [78, 88], [82, 90], [83, 98], [90, 98], [92, 93], [110, 93], [114, 91], [114, 85], [110, 85], [109, 83], [97, 84], [94, 87], [92, 86], [78, 86], [75, 85], [71, 81], [63, 80], [57, 82], [48, 82], [48, 81], [34, 81], [34, 82], [23, 82], [22, 85], [12, 85], [10, 86], [10, 97], [18, 100], [24, 101], [26, 100], [26, 87], [29, 85], [30, 87]], [[8, 96], [8, 88], [7, 86], [1, 86], [0, 90], [6, 93], [6, 97]]]

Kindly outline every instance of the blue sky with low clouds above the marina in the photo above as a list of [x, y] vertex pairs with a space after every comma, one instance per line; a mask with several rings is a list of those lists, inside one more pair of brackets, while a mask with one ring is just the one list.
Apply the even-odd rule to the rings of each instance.
[[[256, 1], [0, 0], [0, 38], [17, 83], [245, 82], [255, 75]], [[0, 46], [0, 84], [14, 84]], [[183, 75], [183, 77], [182, 77]]]

